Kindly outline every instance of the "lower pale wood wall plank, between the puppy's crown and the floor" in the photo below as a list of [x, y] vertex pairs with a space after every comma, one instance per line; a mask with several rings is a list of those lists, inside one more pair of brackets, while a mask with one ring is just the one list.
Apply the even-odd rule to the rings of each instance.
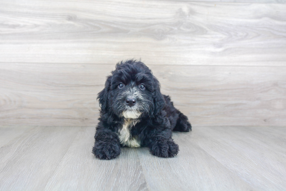
[[[114, 66], [0, 64], [0, 124], [95, 126]], [[148, 66], [195, 126], [286, 125], [286, 67]]]

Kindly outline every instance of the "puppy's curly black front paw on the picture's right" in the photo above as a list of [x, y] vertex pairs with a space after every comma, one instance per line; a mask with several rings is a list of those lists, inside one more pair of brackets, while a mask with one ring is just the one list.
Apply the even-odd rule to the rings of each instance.
[[150, 152], [157, 157], [174, 157], [179, 152], [179, 146], [171, 139], [151, 143]]

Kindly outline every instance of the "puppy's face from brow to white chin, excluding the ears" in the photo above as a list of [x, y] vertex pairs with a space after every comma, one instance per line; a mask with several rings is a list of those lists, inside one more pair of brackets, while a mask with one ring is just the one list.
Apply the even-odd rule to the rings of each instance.
[[116, 69], [111, 78], [112, 112], [119, 117], [131, 119], [149, 114], [153, 108], [152, 92], [153, 76], [148, 70], [138, 70], [134, 67]]

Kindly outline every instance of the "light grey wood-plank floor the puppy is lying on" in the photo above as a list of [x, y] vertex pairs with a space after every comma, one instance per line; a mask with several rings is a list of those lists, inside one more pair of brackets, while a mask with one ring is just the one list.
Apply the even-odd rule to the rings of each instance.
[[285, 190], [285, 127], [194, 127], [180, 151], [91, 153], [94, 127], [0, 127], [0, 190]]

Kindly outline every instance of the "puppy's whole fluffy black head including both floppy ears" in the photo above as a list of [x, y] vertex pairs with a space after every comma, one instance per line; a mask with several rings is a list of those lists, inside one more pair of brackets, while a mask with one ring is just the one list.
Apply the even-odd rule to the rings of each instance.
[[116, 65], [98, 94], [101, 110], [119, 118], [138, 119], [163, 108], [158, 80], [142, 62], [133, 60]]

